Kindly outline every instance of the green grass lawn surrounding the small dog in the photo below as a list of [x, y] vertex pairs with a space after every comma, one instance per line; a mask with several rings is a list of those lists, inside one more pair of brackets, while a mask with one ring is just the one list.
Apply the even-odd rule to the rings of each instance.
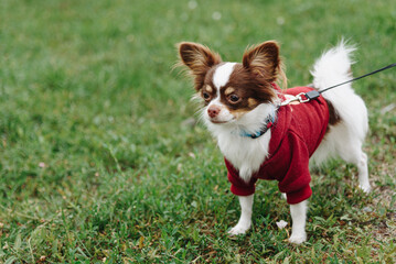
[[[193, 1], [192, 1], [193, 2]], [[287, 204], [260, 182], [254, 227], [194, 117], [174, 44], [226, 61], [281, 43], [290, 85], [341, 36], [355, 75], [396, 61], [392, 0], [0, 2], [0, 263], [395, 263], [395, 69], [354, 84], [370, 109], [374, 190], [340, 162], [313, 173], [308, 242], [287, 243]], [[190, 3], [190, 7], [193, 4]], [[221, 19], [214, 20], [213, 13]], [[283, 22], [283, 23], [282, 23]]]

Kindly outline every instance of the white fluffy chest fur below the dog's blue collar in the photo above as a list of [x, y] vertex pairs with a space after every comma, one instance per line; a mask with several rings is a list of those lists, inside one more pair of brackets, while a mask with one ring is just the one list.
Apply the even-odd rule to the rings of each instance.
[[239, 177], [248, 182], [268, 155], [271, 131], [258, 139], [250, 139], [224, 132], [217, 134], [217, 143], [223, 155], [239, 170]]

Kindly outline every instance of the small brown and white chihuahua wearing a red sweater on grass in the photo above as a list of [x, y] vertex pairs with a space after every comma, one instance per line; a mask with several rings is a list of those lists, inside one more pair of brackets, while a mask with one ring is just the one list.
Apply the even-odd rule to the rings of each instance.
[[306, 92], [351, 79], [354, 50], [341, 41], [313, 65], [312, 85], [280, 89], [278, 82], [287, 80], [275, 41], [247, 48], [242, 63], [224, 63], [197, 43], [179, 43], [180, 63], [194, 78], [195, 98], [203, 102], [201, 117], [217, 140], [231, 191], [239, 199], [240, 218], [229, 234], [244, 234], [250, 228], [259, 178], [278, 180], [286, 194], [292, 220], [289, 242], [295, 244], [307, 241], [310, 165], [341, 157], [357, 167], [360, 188], [371, 190], [362, 150], [367, 109], [351, 84], [301, 100]]

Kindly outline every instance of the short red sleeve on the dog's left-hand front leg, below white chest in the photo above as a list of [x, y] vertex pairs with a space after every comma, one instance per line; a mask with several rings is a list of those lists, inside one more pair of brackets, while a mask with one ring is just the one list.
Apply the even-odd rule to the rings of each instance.
[[251, 177], [250, 180], [246, 183], [239, 177], [238, 170], [234, 168], [234, 166], [226, 158], [224, 158], [224, 161], [228, 170], [227, 177], [231, 183], [231, 191], [237, 196], [249, 196], [255, 194], [255, 184], [257, 178]]

